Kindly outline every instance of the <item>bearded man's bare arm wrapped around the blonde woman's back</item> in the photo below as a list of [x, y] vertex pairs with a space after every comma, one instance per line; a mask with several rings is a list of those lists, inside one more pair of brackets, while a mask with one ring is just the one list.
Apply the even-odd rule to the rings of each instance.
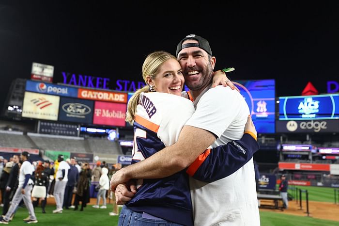
[[112, 191], [118, 184], [137, 178], [165, 178], [188, 167], [216, 141], [213, 133], [192, 126], [184, 126], [178, 141], [151, 157], [117, 171], [111, 178]]

